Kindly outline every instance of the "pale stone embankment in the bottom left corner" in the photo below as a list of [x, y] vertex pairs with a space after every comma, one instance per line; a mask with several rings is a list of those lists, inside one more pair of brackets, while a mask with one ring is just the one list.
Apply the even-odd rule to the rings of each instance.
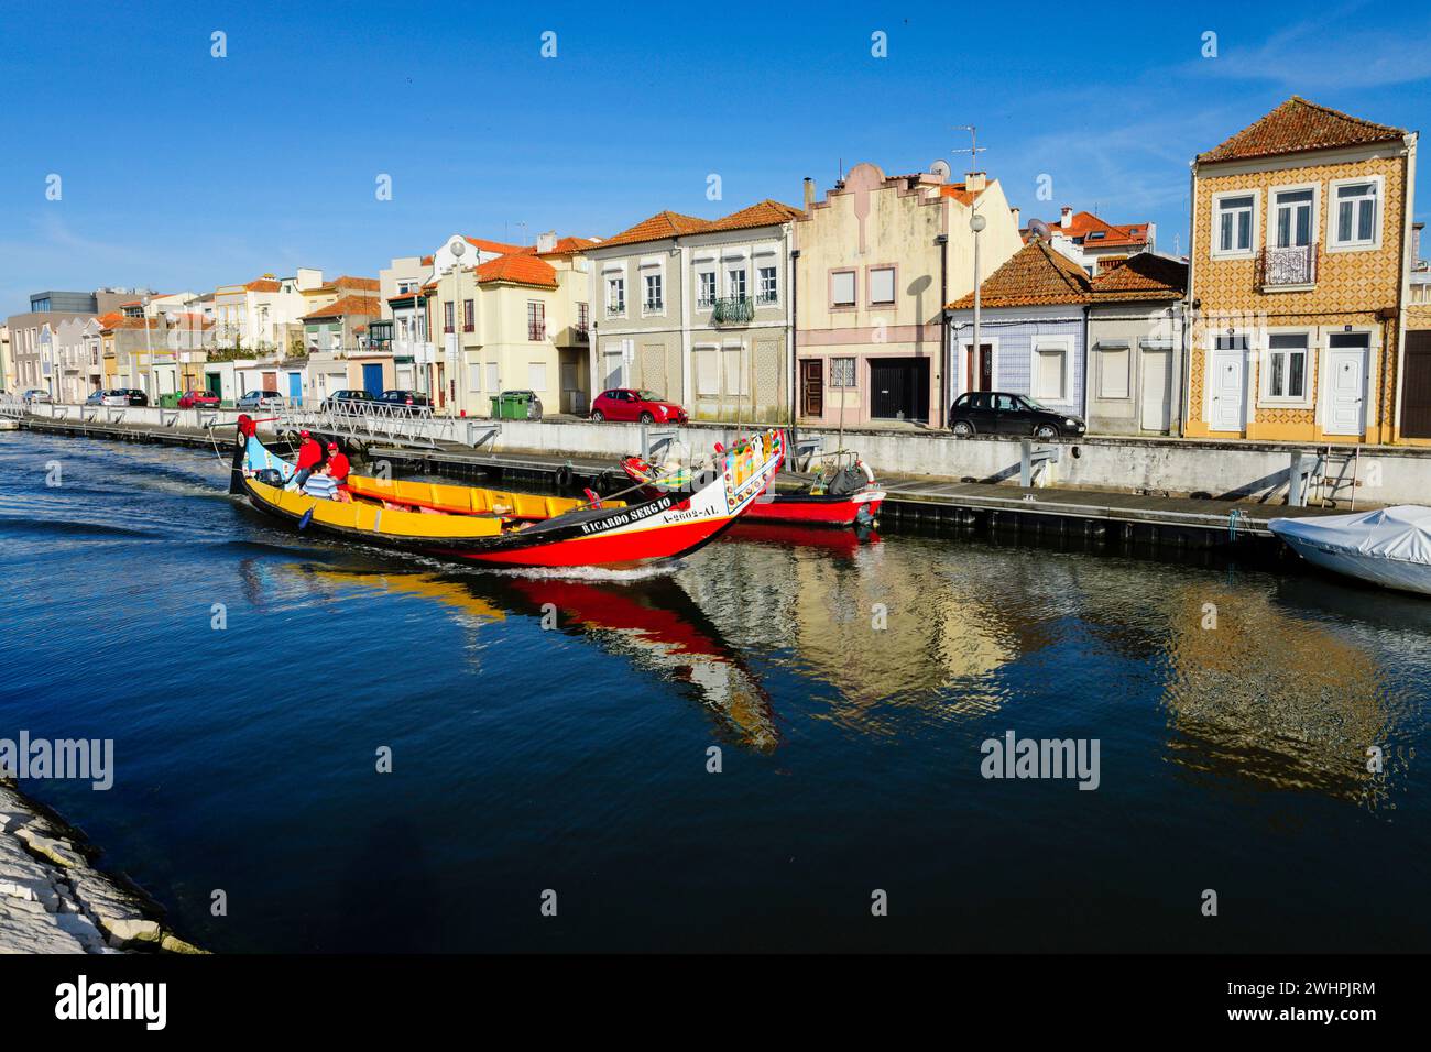
[[0, 779], [0, 953], [202, 953], [89, 856], [73, 829]]

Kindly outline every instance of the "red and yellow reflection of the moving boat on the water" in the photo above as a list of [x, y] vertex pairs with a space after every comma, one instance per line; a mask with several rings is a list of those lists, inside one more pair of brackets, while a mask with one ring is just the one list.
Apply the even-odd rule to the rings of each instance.
[[419, 595], [468, 621], [552, 617], [567, 635], [590, 638], [635, 667], [685, 684], [741, 744], [780, 740], [770, 698], [738, 653], [668, 574], [635, 580], [572, 580], [515, 573], [392, 573], [290, 565], [316, 583], [359, 584]]

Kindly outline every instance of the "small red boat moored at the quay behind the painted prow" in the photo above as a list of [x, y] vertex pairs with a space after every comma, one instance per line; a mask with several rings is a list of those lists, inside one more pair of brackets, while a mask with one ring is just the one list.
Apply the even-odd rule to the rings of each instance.
[[[680, 492], [690, 488], [698, 468], [680, 464], [651, 464], [627, 457], [621, 469], [647, 494]], [[770, 490], [753, 502], [744, 522], [784, 522], [809, 527], [873, 527], [884, 491], [859, 455], [841, 451], [821, 458], [813, 478], [801, 490]]]

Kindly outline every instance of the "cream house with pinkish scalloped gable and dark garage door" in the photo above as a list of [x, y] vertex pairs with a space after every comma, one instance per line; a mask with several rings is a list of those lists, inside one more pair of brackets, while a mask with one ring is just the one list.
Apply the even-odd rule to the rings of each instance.
[[807, 180], [794, 223], [800, 419], [943, 425], [943, 306], [973, 289], [975, 213], [983, 273], [1022, 245], [1003, 189], [979, 172], [952, 183], [861, 163], [813, 198]]

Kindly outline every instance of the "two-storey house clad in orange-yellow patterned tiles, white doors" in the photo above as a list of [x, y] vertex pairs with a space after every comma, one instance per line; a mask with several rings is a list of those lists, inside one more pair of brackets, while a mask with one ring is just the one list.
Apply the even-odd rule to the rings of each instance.
[[1397, 442], [1417, 135], [1292, 97], [1192, 165], [1188, 437]]

